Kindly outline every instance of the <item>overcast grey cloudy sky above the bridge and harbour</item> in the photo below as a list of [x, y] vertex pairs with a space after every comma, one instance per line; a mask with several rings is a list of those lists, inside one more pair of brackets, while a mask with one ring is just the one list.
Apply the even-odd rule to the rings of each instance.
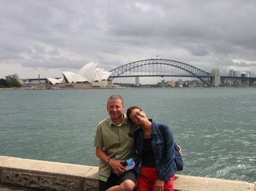
[[0, 78], [59, 78], [89, 62], [111, 71], [151, 58], [256, 74], [255, 10], [255, 0], [1, 0]]

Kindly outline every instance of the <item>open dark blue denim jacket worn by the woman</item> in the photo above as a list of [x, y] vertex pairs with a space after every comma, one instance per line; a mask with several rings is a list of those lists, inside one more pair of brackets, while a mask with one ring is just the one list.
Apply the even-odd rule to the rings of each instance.
[[[152, 119], [152, 149], [155, 155], [155, 167], [157, 168], [158, 179], [169, 181], [171, 176], [176, 173], [177, 168], [174, 163], [174, 141], [173, 133], [170, 128], [163, 123], [157, 123]], [[136, 149], [137, 159], [135, 170], [141, 173], [142, 166], [142, 145], [143, 145], [143, 131], [141, 128], [136, 129]]]

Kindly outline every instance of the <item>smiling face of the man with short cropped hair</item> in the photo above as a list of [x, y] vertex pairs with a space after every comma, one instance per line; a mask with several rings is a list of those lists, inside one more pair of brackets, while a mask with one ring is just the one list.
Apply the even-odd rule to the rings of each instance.
[[121, 100], [109, 100], [107, 111], [110, 114], [111, 119], [121, 119], [123, 117], [124, 104], [122, 104]]

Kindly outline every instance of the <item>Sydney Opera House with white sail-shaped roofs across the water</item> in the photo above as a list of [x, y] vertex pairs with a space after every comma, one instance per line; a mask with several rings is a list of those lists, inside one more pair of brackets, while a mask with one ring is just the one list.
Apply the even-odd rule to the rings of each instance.
[[47, 78], [48, 88], [111, 88], [113, 82], [108, 80], [111, 72], [96, 68], [98, 63], [87, 63], [77, 74], [63, 72], [63, 78]]

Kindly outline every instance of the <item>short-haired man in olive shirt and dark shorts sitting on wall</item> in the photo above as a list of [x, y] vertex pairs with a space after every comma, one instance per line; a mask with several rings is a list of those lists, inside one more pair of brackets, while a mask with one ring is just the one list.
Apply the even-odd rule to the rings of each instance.
[[108, 98], [109, 117], [99, 123], [94, 146], [99, 158], [99, 190], [134, 190], [135, 170], [127, 171], [121, 163], [135, 158], [135, 126], [127, 120], [121, 96]]

